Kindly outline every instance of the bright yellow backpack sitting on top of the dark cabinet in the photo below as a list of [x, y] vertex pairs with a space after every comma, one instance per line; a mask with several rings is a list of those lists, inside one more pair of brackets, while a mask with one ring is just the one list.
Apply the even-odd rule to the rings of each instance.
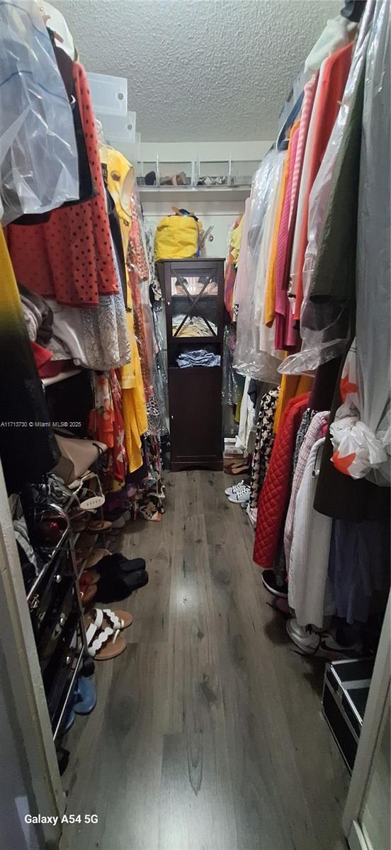
[[155, 234], [155, 259], [190, 259], [201, 253], [201, 221], [178, 210], [175, 215], [161, 218]]

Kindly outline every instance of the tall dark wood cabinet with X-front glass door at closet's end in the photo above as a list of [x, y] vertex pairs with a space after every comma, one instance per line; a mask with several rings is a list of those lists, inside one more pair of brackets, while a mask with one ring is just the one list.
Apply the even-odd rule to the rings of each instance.
[[[157, 264], [166, 303], [171, 469], [223, 468], [224, 259]], [[219, 365], [178, 366], [207, 349]]]

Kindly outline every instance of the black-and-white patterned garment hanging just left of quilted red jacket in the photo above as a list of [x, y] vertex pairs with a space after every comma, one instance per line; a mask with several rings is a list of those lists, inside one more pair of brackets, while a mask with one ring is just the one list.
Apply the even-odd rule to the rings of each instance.
[[250, 508], [258, 507], [258, 496], [268, 471], [271, 450], [275, 441], [273, 425], [279, 393], [280, 387], [270, 389], [269, 393], [263, 395], [260, 402], [254, 453], [252, 455]]

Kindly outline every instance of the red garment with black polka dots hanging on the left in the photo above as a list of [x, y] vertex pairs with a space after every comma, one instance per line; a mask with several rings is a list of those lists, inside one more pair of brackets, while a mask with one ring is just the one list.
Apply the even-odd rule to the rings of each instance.
[[73, 78], [97, 195], [54, 210], [47, 224], [10, 224], [8, 250], [16, 279], [31, 292], [60, 304], [94, 307], [99, 295], [116, 294], [118, 285], [94, 109], [86, 72], [77, 62]]

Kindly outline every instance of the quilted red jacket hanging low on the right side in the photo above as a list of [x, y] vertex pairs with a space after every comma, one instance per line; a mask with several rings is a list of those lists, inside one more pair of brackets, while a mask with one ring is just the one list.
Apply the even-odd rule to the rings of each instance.
[[258, 499], [257, 528], [253, 559], [263, 570], [275, 563], [278, 541], [286, 516], [291, 480], [292, 457], [303, 412], [309, 406], [309, 393], [297, 395], [286, 405], [275, 437], [268, 473]]

